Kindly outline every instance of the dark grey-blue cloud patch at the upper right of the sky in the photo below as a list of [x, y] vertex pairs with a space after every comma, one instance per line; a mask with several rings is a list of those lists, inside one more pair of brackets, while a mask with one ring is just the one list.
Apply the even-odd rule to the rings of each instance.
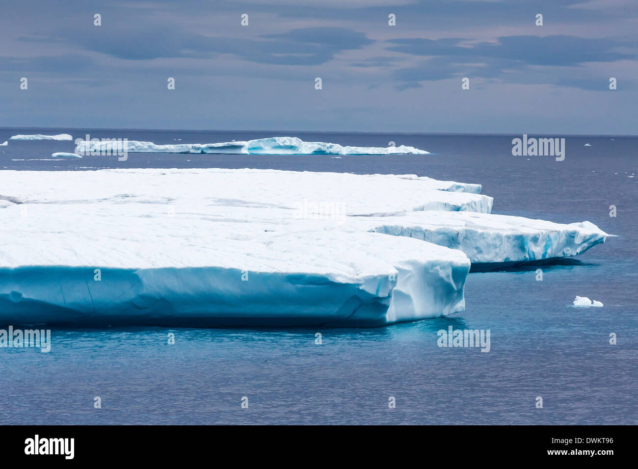
[[589, 71], [588, 77], [583, 76], [584, 71], [576, 73], [574, 68], [637, 57], [635, 53], [620, 52], [630, 47], [628, 41], [575, 36], [504, 36], [496, 43], [469, 45], [460, 38], [396, 39], [389, 42], [394, 44], [388, 48], [390, 51], [429, 57], [413, 66], [394, 70], [394, 78], [406, 84], [474, 77], [602, 90], [609, 77]]

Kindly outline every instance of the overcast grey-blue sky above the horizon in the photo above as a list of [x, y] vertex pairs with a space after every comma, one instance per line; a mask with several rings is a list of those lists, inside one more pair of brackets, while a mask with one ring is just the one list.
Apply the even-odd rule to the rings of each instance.
[[5, 127], [638, 135], [636, 0], [20, 0], [1, 13]]

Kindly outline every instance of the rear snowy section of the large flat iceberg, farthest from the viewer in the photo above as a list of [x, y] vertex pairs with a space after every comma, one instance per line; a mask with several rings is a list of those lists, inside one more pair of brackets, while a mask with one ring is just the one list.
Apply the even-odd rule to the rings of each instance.
[[[347, 215], [414, 210], [491, 211], [480, 184], [416, 175], [293, 172], [256, 169], [134, 169], [3, 171], [0, 188], [26, 202], [148, 200], [195, 206], [202, 202], [295, 210], [304, 200], [338, 206]], [[214, 211], [212, 211], [214, 212]]]

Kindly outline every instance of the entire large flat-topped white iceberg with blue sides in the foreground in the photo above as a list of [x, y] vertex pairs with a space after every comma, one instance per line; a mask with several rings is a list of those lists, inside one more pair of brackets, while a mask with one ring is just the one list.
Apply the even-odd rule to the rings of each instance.
[[463, 311], [470, 261], [606, 235], [416, 175], [1, 171], [0, 188], [6, 324], [390, 324]]

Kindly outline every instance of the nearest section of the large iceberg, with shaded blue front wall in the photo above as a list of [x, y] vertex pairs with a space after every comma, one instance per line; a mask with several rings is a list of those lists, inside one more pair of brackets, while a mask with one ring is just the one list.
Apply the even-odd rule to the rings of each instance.
[[366, 232], [271, 232], [200, 208], [2, 209], [16, 223], [0, 228], [0, 323], [373, 326], [464, 309], [461, 251]]

